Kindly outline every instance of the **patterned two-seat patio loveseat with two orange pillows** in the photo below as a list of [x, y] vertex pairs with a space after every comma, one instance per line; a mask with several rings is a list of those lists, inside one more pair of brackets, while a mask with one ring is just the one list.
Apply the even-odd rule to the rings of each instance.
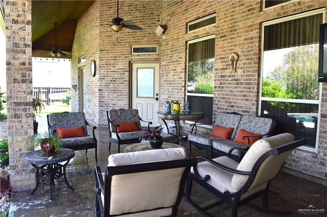
[[212, 157], [216, 153], [240, 161], [256, 140], [272, 135], [274, 126], [275, 121], [272, 118], [221, 112], [213, 123], [211, 133], [193, 133], [197, 126], [193, 127], [188, 138], [190, 156], [193, 145], [211, 151]]

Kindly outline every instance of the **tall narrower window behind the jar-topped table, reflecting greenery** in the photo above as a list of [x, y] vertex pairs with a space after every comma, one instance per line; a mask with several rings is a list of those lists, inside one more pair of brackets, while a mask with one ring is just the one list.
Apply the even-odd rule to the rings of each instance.
[[188, 42], [188, 87], [186, 100], [191, 111], [203, 112], [199, 123], [213, 119], [215, 35]]

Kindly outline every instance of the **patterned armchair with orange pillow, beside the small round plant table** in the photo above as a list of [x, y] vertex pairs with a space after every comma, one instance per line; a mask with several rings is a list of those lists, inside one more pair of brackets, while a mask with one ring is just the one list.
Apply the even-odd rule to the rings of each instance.
[[[84, 150], [87, 154], [88, 149], [95, 148], [96, 161], [97, 157], [97, 138], [95, 136], [96, 126], [90, 126], [83, 112], [62, 112], [51, 113], [47, 115], [48, 127], [51, 134], [58, 134], [63, 136], [63, 148], [77, 150]], [[88, 135], [87, 126], [92, 127], [92, 135]], [[79, 132], [82, 131], [82, 132]]]

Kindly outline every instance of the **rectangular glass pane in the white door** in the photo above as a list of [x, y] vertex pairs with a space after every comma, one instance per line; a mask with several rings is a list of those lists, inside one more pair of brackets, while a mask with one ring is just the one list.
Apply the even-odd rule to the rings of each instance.
[[154, 98], [154, 68], [137, 68], [137, 97]]

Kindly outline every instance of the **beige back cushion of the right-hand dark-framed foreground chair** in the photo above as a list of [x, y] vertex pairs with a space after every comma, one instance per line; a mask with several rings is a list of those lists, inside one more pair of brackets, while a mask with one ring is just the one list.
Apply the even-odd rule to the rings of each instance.
[[[239, 163], [237, 170], [251, 171], [255, 162], [263, 154], [265, 154], [272, 148], [294, 141], [294, 138], [294, 135], [292, 135], [291, 133], [283, 133], [268, 138], [260, 139], [254, 142], [251, 148], [246, 152], [243, 159]], [[264, 163], [261, 165], [257, 177], [255, 178], [251, 186], [255, 187], [261, 185], [267, 180], [270, 180], [271, 177], [275, 176], [290, 152], [283, 153], [277, 157], [270, 156], [266, 161], [264, 161]], [[231, 187], [237, 191], [240, 190], [244, 186], [248, 177], [249, 176], [247, 175], [234, 174], [231, 179]]]

